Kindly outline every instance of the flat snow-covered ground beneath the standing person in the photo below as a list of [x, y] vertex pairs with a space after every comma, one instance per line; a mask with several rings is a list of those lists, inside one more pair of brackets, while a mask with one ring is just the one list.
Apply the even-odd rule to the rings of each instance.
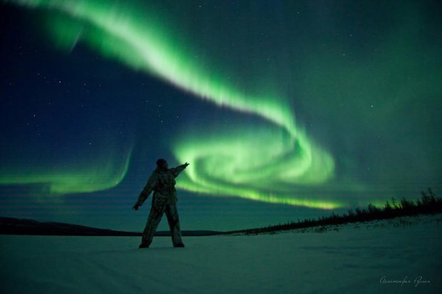
[[1, 293], [442, 293], [441, 228], [442, 214], [421, 215], [146, 249], [139, 237], [2, 235]]

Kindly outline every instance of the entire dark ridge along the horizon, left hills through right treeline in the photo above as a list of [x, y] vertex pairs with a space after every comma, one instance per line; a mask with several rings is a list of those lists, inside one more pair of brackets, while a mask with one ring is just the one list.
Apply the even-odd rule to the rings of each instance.
[[[181, 231], [182, 236], [211, 236], [211, 235], [257, 235], [272, 234], [278, 231], [302, 229], [325, 225], [338, 225], [351, 222], [363, 222], [376, 219], [388, 219], [399, 216], [410, 216], [417, 214], [439, 214], [442, 213], [442, 198], [436, 197], [431, 188], [428, 194], [421, 192], [421, 199], [416, 203], [402, 198], [397, 201], [391, 198], [391, 204], [387, 201], [383, 208], [368, 205], [367, 209], [356, 208], [349, 210], [348, 214], [338, 215], [334, 212], [331, 216], [322, 216], [318, 219], [306, 218], [303, 221], [288, 222], [286, 224], [271, 225], [262, 228], [235, 230], [228, 232], [194, 230]], [[3, 235], [54, 235], [54, 236], [141, 236], [141, 233], [114, 231], [98, 229], [82, 225], [67, 224], [61, 222], [40, 222], [28, 218], [0, 217], [0, 234]], [[156, 232], [154, 236], [170, 236], [169, 231]]]

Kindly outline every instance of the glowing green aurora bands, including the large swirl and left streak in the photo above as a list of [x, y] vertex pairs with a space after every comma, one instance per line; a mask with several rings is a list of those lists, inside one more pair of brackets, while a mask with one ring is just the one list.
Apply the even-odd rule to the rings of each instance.
[[[42, 8], [57, 45], [74, 48], [79, 41], [104, 56], [116, 58], [136, 70], [143, 70], [218, 106], [247, 112], [267, 121], [253, 126], [217, 130], [206, 136], [189, 132], [177, 139], [173, 152], [178, 161], [192, 164], [177, 187], [204, 194], [239, 196], [257, 201], [312, 208], [334, 209], [344, 206], [335, 201], [294, 195], [296, 187], [318, 185], [331, 179], [334, 160], [310, 140], [295, 123], [291, 107], [280, 95], [251, 95], [239, 90], [223, 76], [194, 60], [189, 50], [165, 29], [153, 8], [122, 2], [97, 0], [15, 0], [30, 8]], [[199, 61], [199, 62], [197, 62]], [[218, 127], [219, 128], [219, 127]], [[213, 135], [216, 134], [216, 135]], [[115, 184], [127, 170], [122, 167]], [[114, 170], [112, 169], [113, 173]], [[53, 192], [79, 191], [74, 173], [53, 179]], [[103, 176], [106, 176], [103, 174]], [[77, 179], [77, 180], [76, 180]], [[26, 182], [41, 179], [30, 176]], [[109, 188], [93, 178], [84, 191]], [[108, 180], [106, 182], [109, 182]], [[2, 178], [1, 184], [18, 183]], [[82, 190], [83, 191], [83, 190]]]

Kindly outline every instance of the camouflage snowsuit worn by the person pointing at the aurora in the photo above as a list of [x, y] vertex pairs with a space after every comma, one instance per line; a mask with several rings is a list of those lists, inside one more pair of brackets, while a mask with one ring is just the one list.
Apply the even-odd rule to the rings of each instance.
[[138, 196], [137, 204], [141, 206], [147, 199], [150, 192], [154, 190], [152, 196], [152, 206], [150, 208], [149, 216], [147, 217], [146, 227], [142, 235], [142, 243], [150, 245], [153, 235], [160, 224], [163, 214], [166, 213], [167, 222], [172, 235], [172, 243], [182, 243], [180, 222], [178, 210], [176, 208], [175, 178], [186, 168], [186, 164], [169, 168], [167, 170], [157, 168], [152, 172], [146, 186]]

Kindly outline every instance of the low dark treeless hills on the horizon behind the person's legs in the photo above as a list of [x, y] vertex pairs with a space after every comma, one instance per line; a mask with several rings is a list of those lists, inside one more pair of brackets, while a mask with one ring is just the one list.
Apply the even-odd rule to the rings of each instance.
[[[181, 231], [182, 236], [210, 236], [222, 232], [208, 230]], [[0, 217], [2, 235], [46, 236], [141, 236], [141, 233], [98, 229], [62, 222], [41, 222], [29, 218]], [[169, 231], [156, 232], [154, 236], [170, 236]]]

